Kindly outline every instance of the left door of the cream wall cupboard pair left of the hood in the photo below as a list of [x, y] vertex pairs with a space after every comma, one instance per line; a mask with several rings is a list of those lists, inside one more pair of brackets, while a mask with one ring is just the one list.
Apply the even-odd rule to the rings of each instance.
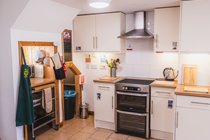
[[[78, 16], [74, 20], [75, 51], [93, 51], [95, 42], [95, 16]], [[81, 48], [81, 50], [79, 50]]]

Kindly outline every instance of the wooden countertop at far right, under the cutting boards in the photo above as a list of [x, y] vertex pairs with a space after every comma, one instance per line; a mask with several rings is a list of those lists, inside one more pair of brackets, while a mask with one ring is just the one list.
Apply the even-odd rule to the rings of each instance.
[[[207, 97], [210, 98], [210, 86], [190, 86], [192, 88], [201, 88], [201, 89], [208, 89], [208, 92], [198, 92], [198, 91], [186, 91], [184, 90], [186, 86], [184, 85], [177, 85], [175, 94], [176, 95], [184, 95], [184, 96], [196, 96], [196, 97]], [[189, 86], [188, 86], [189, 87]]]

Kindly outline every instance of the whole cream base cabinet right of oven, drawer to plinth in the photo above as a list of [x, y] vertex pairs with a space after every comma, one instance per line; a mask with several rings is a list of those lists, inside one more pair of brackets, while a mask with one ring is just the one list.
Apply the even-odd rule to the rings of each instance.
[[151, 89], [151, 137], [173, 139], [175, 122], [174, 88]]

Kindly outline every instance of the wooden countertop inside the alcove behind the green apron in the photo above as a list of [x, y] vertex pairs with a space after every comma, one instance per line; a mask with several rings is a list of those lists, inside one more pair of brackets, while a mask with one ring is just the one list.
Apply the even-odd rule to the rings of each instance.
[[55, 82], [55, 79], [50, 78], [31, 78], [30, 80], [32, 88]]

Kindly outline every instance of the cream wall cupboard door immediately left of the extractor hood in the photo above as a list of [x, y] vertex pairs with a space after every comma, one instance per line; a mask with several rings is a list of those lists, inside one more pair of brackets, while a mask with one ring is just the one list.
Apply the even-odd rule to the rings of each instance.
[[121, 13], [96, 15], [96, 51], [121, 51]]

